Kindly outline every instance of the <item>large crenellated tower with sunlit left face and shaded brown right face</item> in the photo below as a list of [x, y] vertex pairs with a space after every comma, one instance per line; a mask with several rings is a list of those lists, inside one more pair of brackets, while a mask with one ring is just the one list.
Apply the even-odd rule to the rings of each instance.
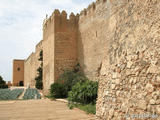
[[65, 11], [55, 10], [49, 19], [45, 20], [43, 84], [44, 93], [50, 85], [56, 82], [65, 69], [70, 69], [77, 63], [77, 17], [74, 14], [67, 19]]

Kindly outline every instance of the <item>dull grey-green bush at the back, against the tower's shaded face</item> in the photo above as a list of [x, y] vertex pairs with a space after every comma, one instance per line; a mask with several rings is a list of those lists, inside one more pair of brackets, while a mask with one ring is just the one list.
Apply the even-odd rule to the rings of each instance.
[[66, 70], [60, 75], [58, 82], [64, 84], [67, 91], [70, 91], [72, 86], [74, 86], [77, 82], [85, 80], [87, 80], [87, 78], [81, 72]]

